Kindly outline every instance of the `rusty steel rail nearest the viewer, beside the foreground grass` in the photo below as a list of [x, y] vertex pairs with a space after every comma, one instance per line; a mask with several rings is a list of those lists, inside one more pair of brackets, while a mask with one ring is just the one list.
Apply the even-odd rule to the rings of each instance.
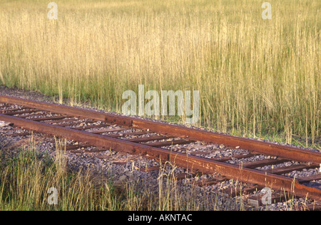
[[[321, 200], [321, 190], [307, 187], [297, 181], [293, 181], [290, 177], [284, 177], [277, 174], [258, 171], [257, 169], [248, 169], [225, 162], [217, 162], [212, 159], [205, 159], [193, 155], [185, 155], [180, 152], [171, 152], [157, 147], [142, 145], [139, 143], [120, 140], [113, 137], [96, 135], [91, 132], [82, 130], [74, 130], [68, 127], [59, 127], [58, 125], [46, 124], [44, 122], [36, 122], [26, 120], [19, 117], [0, 114], [0, 120], [13, 122], [19, 127], [27, 130], [34, 130], [49, 135], [64, 137], [68, 140], [76, 140], [78, 142], [87, 142], [97, 147], [111, 148], [118, 152], [128, 152], [131, 154], [141, 154], [151, 157], [162, 162], [170, 161], [178, 167], [192, 169], [195, 172], [213, 173], [218, 172], [228, 178], [238, 179], [242, 182], [254, 183], [272, 189], [285, 189], [290, 192], [292, 189], [295, 194], [300, 197], [311, 197], [312, 199]], [[293, 185], [294, 184], [294, 185]], [[293, 188], [294, 186], [294, 188]]]

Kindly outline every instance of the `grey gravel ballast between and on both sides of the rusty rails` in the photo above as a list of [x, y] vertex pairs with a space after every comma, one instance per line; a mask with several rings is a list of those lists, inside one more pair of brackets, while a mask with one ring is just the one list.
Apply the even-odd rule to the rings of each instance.
[[[4, 88], [3, 86], [0, 86], [0, 94], [11, 95], [11, 96], [16, 96], [21, 98], [28, 98], [31, 100], [41, 100], [47, 103], [54, 102], [53, 98], [46, 97], [39, 93], [9, 89], [9, 88]], [[66, 104], [68, 105], [68, 102], [66, 102]], [[14, 108], [14, 107], [11, 107], [11, 108]], [[76, 106], [76, 107], [86, 108], [85, 105]], [[96, 111], [106, 112], [103, 110], [96, 110]], [[109, 113], [121, 115], [116, 112], [109, 112]], [[36, 116], [39, 116], [39, 115], [35, 115], [35, 117]], [[54, 116], [54, 114], [52, 116]], [[138, 116], [132, 116], [132, 117], [138, 117]], [[146, 118], [146, 120], [152, 120], [152, 119]], [[156, 121], [156, 120], [153, 120], [153, 121]], [[86, 125], [101, 124], [100, 121], [89, 122], [89, 121], [83, 120], [82, 122], [86, 123]], [[68, 123], [68, 122], [63, 122], [62, 124], [64, 123]], [[164, 122], [164, 123], [168, 123], [168, 122]], [[77, 126], [73, 126], [73, 127], [77, 127]], [[113, 126], [113, 128], [116, 128], [116, 127], [117, 126]], [[188, 126], [188, 127], [192, 127], [192, 126]], [[203, 128], [198, 128], [198, 127], [192, 127], [192, 128], [198, 129], [198, 130], [205, 130]], [[91, 130], [101, 130], [101, 129], [106, 129], [106, 127], [95, 128]], [[108, 134], [125, 134], [126, 132], [139, 132], [139, 131], [141, 130], [127, 129], [127, 130], [122, 130], [118, 132], [110, 132]], [[12, 134], [16, 132], [26, 132], [26, 130], [22, 130], [22, 129], [14, 130], [12, 129], [12, 127], [0, 127], [0, 132], [3, 134], [4, 133]], [[26, 137], [21, 137], [21, 136], [6, 137], [4, 135], [1, 135], [1, 133], [0, 133], [1, 149], [26, 140]], [[156, 134], [151, 133], [148, 135], [128, 135], [126, 137], [121, 137], [121, 139], [149, 137], [151, 135], [156, 135]], [[37, 142], [35, 146], [36, 150], [39, 152], [42, 152], [42, 154], [47, 154], [47, 155], [50, 155], [51, 157], [54, 157], [54, 155], [56, 154], [56, 144], [53, 141], [53, 138], [44, 137], [43, 135], [39, 135], [39, 134], [34, 134], [33, 136], [35, 140], [37, 140], [37, 138], [39, 139], [41, 138], [41, 141]], [[170, 140], [170, 139], [167, 139], [167, 140]], [[160, 141], [161, 140], [156, 140], [151, 142], [160, 142]], [[262, 141], [270, 142], [267, 140], [262, 140]], [[271, 143], [276, 143], [276, 142], [271, 142]], [[77, 143], [72, 141], [67, 141], [66, 144], [76, 145]], [[287, 144], [284, 144], [284, 145], [287, 145]], [[294, 147], [297, 147], [297, 146], [294, 146]], [[204, 146], [201, 142], [190, 143], [187, 145], [175, 145], [175, 146], [169, 146], [169, 147], [163, 147], [163, 148], [167, 150], [188, 153], [190, 155], [193, 155], [193, 152], [202, 152], [202, 151], [208, 152], [212, 150], [213, 153], [206, 154], [206, 155], [195, 154], [196, 156], [205, 157], [208, 159], [218, 158], [218, 157], [230, 157], [232, 155], [248, 155], [250, 153], [248, 152], [248, 150], [242, 150], [239, 148], [226, 149], [225, 146], [223, 145]], [[305, 149], [303, 147], [297, 147], [297, 148]], [[148, 193], [157, 194], [159, 192], [159, 187], [161, 182], [163, 187], [168, 187], [168, 183], [170, 182], [170, 179], [168, 178], [170, 176], [173, 176], [173, 174], [180, 174], [182, 172], [185, 172], [185, 169], [175, 168], [175, 167], [172, 167], [170, 164], [160, 164], [159, 162], [156, 162], [156, 160], [146, 159], [141, 156], [122, 154], [122, 153], [115, 152], [113, 150], [106, 150], [104, 152], [90, 152], [91, 150], [96, 150], [96, 148], [88, 147], [86, 148], [86, 151], [83, 151], [83, 152], [80, 151], [79, 153], [76, 153], [76, 154], [71, 152], [66, 152], [68, 167], [75, 170], [91, 169], [91, 171], [93, 171], [96, 174], [100, 174], [100, 175], [103, 175], [104, 177], [108, 177], [112, 179], [116, 185], [120, 185], [120, 186], [123, 184], [123, 182], [131, 180], [132, 182], [135, 182], [134, 185], [136, 189], [138, 191], [141, 191], [142, 193], [148, 191]], [[315, 150], [315, 151], [320, 151], [320, 150]], [[19, 148], [16, 150], [7, 151], [6, 154], [14, 155], [16, 154], [16, 152], [19, 152]], [[250, 162], [253, 160], [267, 159], [268, 157], [269, 156], [255, 155], [253, 157], [248, 157], [243, 159], [231, 158], [230, 160], [228, 160], [228, 163], [238, 164], [240, 162]], [[296, 162], [290, 162], [290, 163], [295, 164]], [[142, 172], [139, 170], [139, 168], [156, 167], [156, 166], [161, 166], [162, 169], [160, 171], [156, 170], [152, 172]], [[276, 168], [276, 167], [282, 167], [282, 166], [286, 166], [285, 163], [283, 165], [282, 164], [274, 165], [273, 167]], [[257, 169], [269, 169], [269, 166], [261, 167]], [[303, 169], [301, 172], [292, 172], [285, 175], [289, 177], [304, 177], [304, 176], [307, 176], [307, 174], [311, 175], [311, 174], [319, 174], [319, 173], [320, 173], [319, 169], [307, 169], [306, 171], [305, 169]], [[291, 209], [292, 204], [307, 203], [306, 199], [295, 199], [295, 202], [282, 202], [282, 203], [272, 204], [270, 206], [260, 206], [257, 208], [257, 207], [249, 206], [246, 202], [243, 202], [242, 199], [240, 199], [240, 197], [230, 198], [219, 194], [220, 191], [223, 189], [230, 189], [230, 188], [234, 188], [242, 185], [240, 182], [235, 181], [233, 179], [225, 180], [224, 182], [218, 182], [217, 184], [210, 185], [208, 187], [198, 187], [196, 185], [193, 185], [195, 182], [202, 181], [202, 180], [205, 181], [206, 179], [211, 179], [213, 177], [216, 177], [217, 175], [218, 174], [203, 174], [200, 177], [197, 176], [190, 179], [183, 179], [181, 181], [178, 181], [175, 184], [176, 185], [175, 187], [178, 189], [179, 195], [181, 197], [188, 197], [193, 195], [194, 197], [193, 201], [195, 201], [195, 204], [199, 205], [200, 209], [205, 209], [205, 210], [213, 210], [213, 209], [287, 210], [287, 209]], [[309, 185], [320, 184], [320, 182], [321, 181], [309, 182]], [[258, 190], [258, 194], [259, 192], [260, 190]]]

